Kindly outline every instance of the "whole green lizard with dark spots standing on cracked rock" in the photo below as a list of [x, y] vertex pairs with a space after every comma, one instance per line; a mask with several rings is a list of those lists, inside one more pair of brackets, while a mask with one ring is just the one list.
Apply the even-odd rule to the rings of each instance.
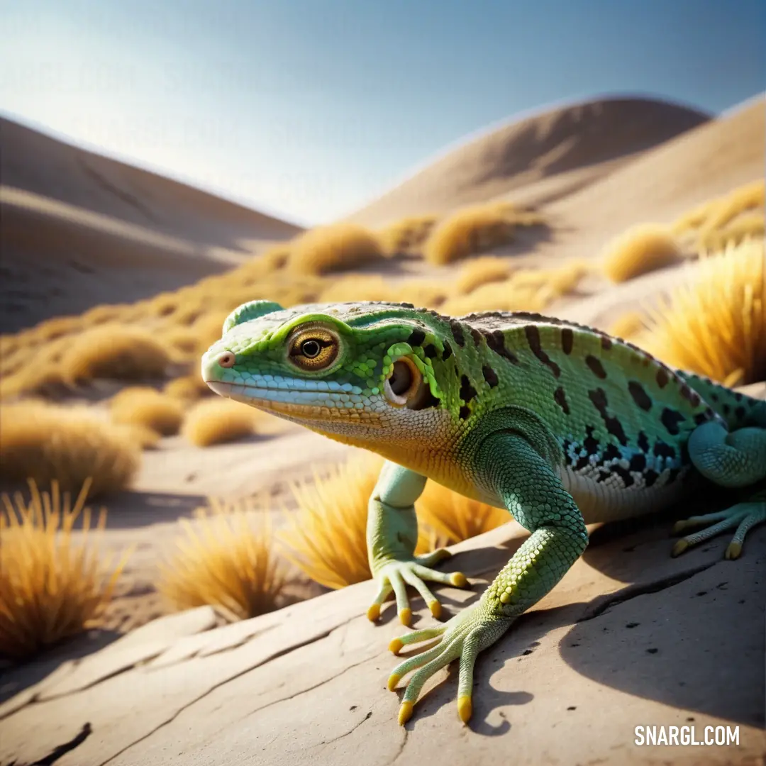
[[[416, 557], [414, 502], [427, 479], [509, 510], [529, 538], [480, 601], [436, 628], [391, 642], [440, 637], [396, 666], [411, 676], [404, 724], [425, 681], [460, 658], [457, 708], [471, 715], [480, 651], [561, 580], [588, 544], [585, 525], [660, 509], [705, 480], [758, 484], [745, 502], [678, 522], [689, 545], [766, 520], [766, 401], [674, 371], [603, 332], [529, 313], [461, 319], [408, 303], [295, 306], [257, 300], [224, 322], [202, 358], [202, 377], [224, 397], [277, 414], [385, 457], [368, 506], [368, 557], [378, 584], [376, 620], [393, 591], [411, 618], [406, 586], [434, 617], [424, 581], [467, 584], [432, 568], [442, 550]], [[705, 528], [705, 525], [706, 528]]]

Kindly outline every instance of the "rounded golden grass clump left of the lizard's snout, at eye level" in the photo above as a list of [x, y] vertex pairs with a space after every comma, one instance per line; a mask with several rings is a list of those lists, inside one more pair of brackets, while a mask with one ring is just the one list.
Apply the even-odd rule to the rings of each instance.
[[74, 339], [61, 359], [61, 372], [70, 381], [141, 380], [162, 377], [170, 361], [166, 345], [148, 330], [105, 325]]

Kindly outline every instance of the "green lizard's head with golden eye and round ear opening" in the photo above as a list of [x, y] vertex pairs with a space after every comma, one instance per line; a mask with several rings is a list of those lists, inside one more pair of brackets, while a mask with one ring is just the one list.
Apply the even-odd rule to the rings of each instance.
[[351, 444], [406, 447], [419, 426], [447, 436], [462, 423], [448, 332], [447, 319], [410, 304], [256, 300], [228, 316], [202, 378], [221, 396]]

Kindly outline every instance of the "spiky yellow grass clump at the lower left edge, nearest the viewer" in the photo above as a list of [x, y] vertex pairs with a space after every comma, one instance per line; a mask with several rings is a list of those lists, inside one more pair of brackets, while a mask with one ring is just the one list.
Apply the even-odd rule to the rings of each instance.
[[[88, 538], [87, 480], [74, 506], [55, 480], [50, 492], [40, 492], [34, 480], [29, 489], [29, 502], [21, 493], [15, 493], [15, 503], [7, 493], [0, 496], [0, 655], [13, 660], [97, 626], [128, 555], [111, 571], [100, 558], [106, 509], [98, 536]], [[77, 543], [73, 532], [80, 515]]]

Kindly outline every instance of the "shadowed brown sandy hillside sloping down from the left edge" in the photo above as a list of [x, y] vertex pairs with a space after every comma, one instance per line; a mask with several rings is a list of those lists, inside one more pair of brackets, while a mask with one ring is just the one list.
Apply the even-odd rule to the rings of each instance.
[[0, 329], [193, 283], [300, 228], [0, 119]]

